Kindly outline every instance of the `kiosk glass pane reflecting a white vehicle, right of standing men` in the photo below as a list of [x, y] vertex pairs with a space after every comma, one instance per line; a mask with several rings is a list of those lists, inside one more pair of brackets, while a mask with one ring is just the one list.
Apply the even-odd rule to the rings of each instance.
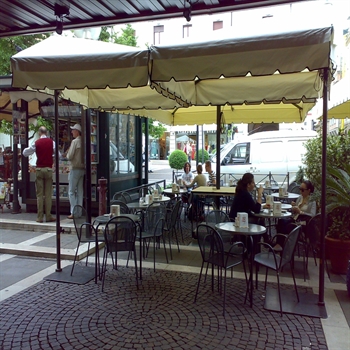
[[135, 117], [111, 114], [109, 140], [110, 172], [135, 172]]

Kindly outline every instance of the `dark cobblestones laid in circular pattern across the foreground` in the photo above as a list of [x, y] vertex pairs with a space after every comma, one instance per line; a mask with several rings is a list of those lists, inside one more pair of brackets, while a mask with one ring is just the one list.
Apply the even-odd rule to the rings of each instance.
[[320, 319], [263, 309], [262, 283], [250, 308], [245, 281], [228, 278], [224, 317], [210, 278], [193, 302], [197, 279], [144, 269], [137, 290], [134, 270], [120, 267], [108, 270], [103, 293], [100, 282], [40, 282], [0, 303], [0, 348], [327, 349]]

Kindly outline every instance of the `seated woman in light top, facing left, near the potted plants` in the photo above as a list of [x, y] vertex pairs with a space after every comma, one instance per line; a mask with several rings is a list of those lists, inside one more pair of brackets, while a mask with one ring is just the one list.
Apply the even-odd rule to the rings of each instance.
[[[277, 233], [288, 234], [295, 223], [308, 223], [308, 221], [316, 215], [316, 202], [311, 200], [310, 195], [314, 192], [314, 185], [311, 181], [305, 180], [301, 183], [300, 196], [296, 202], [292, 202], [291, 218], [285, 218], [278, 220], [276, 226]], [[281, 240], [277, 240], [278, 244], [281, 244]]]

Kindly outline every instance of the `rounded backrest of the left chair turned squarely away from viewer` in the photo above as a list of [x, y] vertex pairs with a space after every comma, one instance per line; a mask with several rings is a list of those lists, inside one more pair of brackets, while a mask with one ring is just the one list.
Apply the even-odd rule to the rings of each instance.
[[108, 252], [134, 251], [139, 225], [127, 216], [114, 216], [104, 230]]

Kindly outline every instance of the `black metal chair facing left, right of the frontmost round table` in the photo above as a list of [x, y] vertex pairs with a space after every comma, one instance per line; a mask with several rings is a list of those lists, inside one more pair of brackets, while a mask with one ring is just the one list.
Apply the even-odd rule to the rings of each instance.
[[277, 275], [277, 288], [278, 288], [278, 297], [279, 297], [279, 304], [280, 304], [280, 311], [281, 316], [283, 315], [282, 310], [282, 299], [281, 299], [281, 287], [280, 287], [280, 272], [283, 269], [284, 266], [287, 264], [290, 264], [291, 272], [293, 276], [294, 281], [294, 288], [295, 293], [297, 295], [297, 299], [299, 301], [299, 294], [298, 294], [298, 288], [295, 282], [295, 276], [294, 276], [294, 266], [293, 266], [293, 258], [294, 258], [294, 251], [296, 248], [296, 245], [298, 243], [298, 238], [300, 234], [301, 227], [296, 226], [286, 237], [286, 240], [284, 242], [281, 255], [278, 255], [271, 245], [259, 242], [260, 245], [263, 245], [264, 247], [268, 248], [268, 251], [258, 253], [254, 256], [254, 261], [256, 264], [256, 289], [258, 289], [258, 265], [265, 266], [266, 268], [266, 274], [265, 274], [265, 286], [264, 289], [266, 289], [266, 282], [267, 282], [267, 274], [269, 269], [276, 271]]

